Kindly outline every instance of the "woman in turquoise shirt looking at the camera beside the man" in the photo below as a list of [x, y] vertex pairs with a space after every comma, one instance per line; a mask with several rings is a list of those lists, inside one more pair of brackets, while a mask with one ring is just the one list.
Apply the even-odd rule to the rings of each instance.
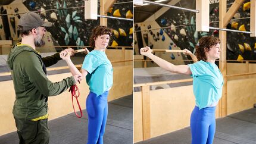
[[92, 30], [89, 43], [93, 51], [86, 55], [81, 72], [70, 60], [70, 55], [62, 55], [73, 75], [82, 74], [86, 78], [90, 93], [86, 99], [88, 112], [88, 144], [102, 144], [108, 115], [108, 90], [113, 85], [113, 67], [105, 50], [110, 42], [112, 30], [98, 26]]

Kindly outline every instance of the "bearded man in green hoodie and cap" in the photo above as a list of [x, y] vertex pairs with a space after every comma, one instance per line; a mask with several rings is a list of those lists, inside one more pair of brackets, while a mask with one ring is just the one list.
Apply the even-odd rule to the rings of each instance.
[[36, 51], [36, 46], [45, 44], [45, 27], [51, 26], [35, 12], [23, 14], [18, 24], [21, 43], [14, 45], [8, 55], [16, 95], [13, 115], [20, 143], [49, 143], [48, 96], [59, 95], [80, 79], [71, 76], [52, 83], [46, 77], [46, 67], [61, 60], [60, 53], [42, 58]]

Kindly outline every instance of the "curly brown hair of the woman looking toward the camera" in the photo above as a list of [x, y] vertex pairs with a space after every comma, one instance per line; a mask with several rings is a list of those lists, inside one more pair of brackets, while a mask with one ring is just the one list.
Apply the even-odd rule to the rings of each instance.
[[92, 35], [90, 36], [89, 39], [89, 44], [92, 46], [92, 48], [95, 48], [95, 39], [98, 36], [101, 35], [109, 35], [110, 37], [112, 36], [113, 30], [105, 27], [105, 26], [97, 26], [92, 30]]

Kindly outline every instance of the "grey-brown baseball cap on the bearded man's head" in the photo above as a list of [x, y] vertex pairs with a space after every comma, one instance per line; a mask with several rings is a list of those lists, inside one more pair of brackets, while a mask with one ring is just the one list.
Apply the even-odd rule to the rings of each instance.
[[32, 30], [39, 26], [51, 27], [52, 23], [43, 21], [40, 15], [35, 12], [27, 12], [26, 14], [23, 14], [18, 22], [18, 29], [20, 30]]

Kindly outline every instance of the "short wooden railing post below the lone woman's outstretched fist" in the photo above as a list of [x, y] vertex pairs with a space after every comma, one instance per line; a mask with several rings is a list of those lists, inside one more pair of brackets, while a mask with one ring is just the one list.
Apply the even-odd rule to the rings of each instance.
[[143, 140], [151, 138], [149, 86], [142, 86], [142, 133]]

